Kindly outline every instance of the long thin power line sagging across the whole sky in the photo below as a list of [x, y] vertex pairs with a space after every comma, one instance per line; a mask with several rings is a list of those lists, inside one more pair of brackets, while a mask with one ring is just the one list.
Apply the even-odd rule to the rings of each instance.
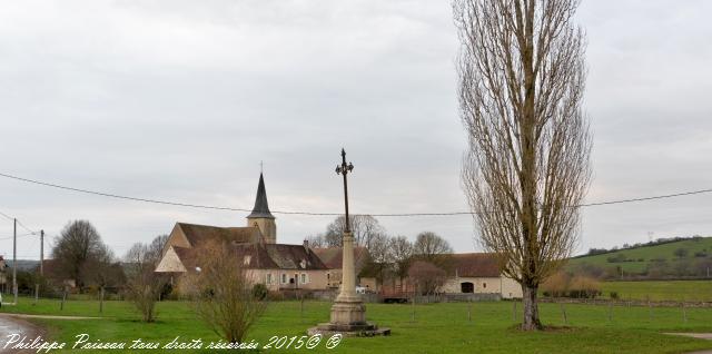
[[[244, 213], [250, 213], [251, 212], [251, 209], [246, 209], [246, 208], [234, 208], [234, 207], [225, 207], [225, 206], [189, 204], [189, 203], [179, 203], [179, 201], [160, 200], [160, 199], [151, 199], [151, 198], [139, 198], [139, 197], [122, 196], [122, 195], [105, 193], [105, 191], [96, 191], [96, 190], [83, 189], [83, 188], [68, 187], [68, 186], [57, 185], [57, 184], [52, 184], [52, 183], [47, 183], [47, 181], [18, 177], [18, 176], [13, 176], [13, 175], [8, 175], [8, 174], [3, 174], [3, 173], [0, 173], [0, 177], [6, 177], [6, 178], [20, 180], [20, 181], [24, 181], [24, 183], [29, 183], [29, 184], [34, 184], [34, 185], [40, 185], [40, 186], [46, 186], [46, 187], [52, 187], [52, 188], [58, 188], [58, 189], [65, 189], [65, 190], [70, 190], [70, 191], [77, 191], [77, 193], [89, 194], [89, 195], [97, 195], [97, 196], [109, 197], [109, 198], [125, 199], [125, 200], [134, 200], [134, 201], [142, 201], [142, 203], [160, 204], [160, 205], [170, 205], [170, 206], [179, 206], [179, 207], [189, 207], [189, 208], [199, 208], [199, 209], [244, 212]], [[700, 189], [700, 190], [682, 191], [682, 193], [659, 195], [659, 196], [650, 196], [650, 197], [640, 197], [640, 198], [627, 198], [627, 199], [587, 203], [587, 204], [575, 205], [573, 207], [593, 207], [593, 206], [603, 206], [603, 205], [636, 203], [636, 201], [666, 199], [666, 198], [674, 198], [674, 197], [682, 197], [682, 196], [690, 196], [690, 195], [698, 195], [698, 194], [705, 194], [705, 193], [712, 193], [712, 189]], [[283, 214], [283, 215], [309, 215], [309, 216], [339, 216], [339, 215], [342, 215], [342, 213], [312, 213], [312, 212], [285, 212], [285, 210], [273, 210], [271, 213], [273, 214]], [[366, 215], [378, 216], [378, 217], [411, 217], [411, 216], [457, 216], [457, 215], [473, 215], [473, 214], [475, 214], [475, 213], [473, 213], [473, 212], [394, 213], [394, 214], [366, 214]], [[11, 217], [9, 217], [6, 214], [0, 213], [0, 215], [4, 216], [6, 218], [12, 219]], [[20, 224], [20, 225], [23, 228], [26, 228], [28, 232], [34, 233], [31, 229], [27, 228], [24, 225], [22, 225], [22, 224]]]

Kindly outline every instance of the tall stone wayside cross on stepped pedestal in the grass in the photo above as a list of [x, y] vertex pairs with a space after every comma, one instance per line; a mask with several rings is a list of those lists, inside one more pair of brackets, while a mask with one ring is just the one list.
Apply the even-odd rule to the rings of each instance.
[[336, 174], [344, 176], [344, 207], [345, 227], [343, 239], [343, 262], [342, 262], [342, 288], [332, 305], [332, 317], [329, 323], [319, 324], [309, 328], [309, 334], [340, 333], [344, 335], [388, 335], [389, 328], [378, 328], [375, 324], [366, 322], [366, 306], [358, 294], [356, 294], [356, 269], [354, 265], [354, 235], [348, 219], [348, 180], [346, 175], [354, 170], [352, 163], [346, 164], [346, 151], [342, 149], [342, 165], [336, 167]]

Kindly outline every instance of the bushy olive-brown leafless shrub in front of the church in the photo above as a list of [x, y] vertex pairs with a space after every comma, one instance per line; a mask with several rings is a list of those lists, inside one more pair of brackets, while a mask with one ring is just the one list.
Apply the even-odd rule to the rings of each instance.
[[241, 342], [267, 303], [253, 294], [248, 271], [229, 245], [209, 242], [197, 254], [200, 271], [188, 275], [186, 287], [198, 316], [226, 341]]

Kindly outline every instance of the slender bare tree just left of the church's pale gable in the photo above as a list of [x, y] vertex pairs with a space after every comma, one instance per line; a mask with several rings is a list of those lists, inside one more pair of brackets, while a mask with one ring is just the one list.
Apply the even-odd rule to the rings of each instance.
[[168, 281], [165, 274], [154, 272], [162, 256], [164, 243], [165, 236], [158, 236], [150, 244], [134, 244], [125, 256], [127, 297], [144, 322], [156, 321], [156, 302]]

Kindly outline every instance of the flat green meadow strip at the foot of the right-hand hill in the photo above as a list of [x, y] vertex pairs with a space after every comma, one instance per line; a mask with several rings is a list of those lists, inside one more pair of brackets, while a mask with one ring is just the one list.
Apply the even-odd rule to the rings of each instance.
[[616, 292], [621, 299], [712, 302], [712, 281], [603, 282], [604, 297]]

